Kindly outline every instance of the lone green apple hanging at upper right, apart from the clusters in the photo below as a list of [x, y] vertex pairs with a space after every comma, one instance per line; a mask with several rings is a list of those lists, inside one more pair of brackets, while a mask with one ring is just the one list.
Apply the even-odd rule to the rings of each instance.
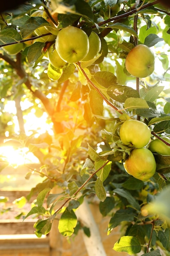
[[150, 76], [155, 68], [154, 53], [146, 45], [137, 45], [128, 53], [125, 66], [132, 76]]

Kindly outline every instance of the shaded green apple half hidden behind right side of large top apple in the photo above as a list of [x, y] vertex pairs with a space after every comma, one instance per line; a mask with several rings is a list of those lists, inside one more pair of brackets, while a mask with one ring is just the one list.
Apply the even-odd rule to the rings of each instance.
[[82, 61], [89, 61], [93, 59], [101, 49], [101, 40], [94, 31], [91, 32], [90, 36], [88, 37], [88, 40], [89, 40], [89, 51], [86, 57], [82, 59]]

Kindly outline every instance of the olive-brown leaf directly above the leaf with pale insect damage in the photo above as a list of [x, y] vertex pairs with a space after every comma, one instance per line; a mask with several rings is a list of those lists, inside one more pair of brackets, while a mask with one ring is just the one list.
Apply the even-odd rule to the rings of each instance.
[[117, 84], [117, 77], [108, 71], [100, 71], [94, 74], [94, 78], [100, 85], [108, 88], [110, 85]]

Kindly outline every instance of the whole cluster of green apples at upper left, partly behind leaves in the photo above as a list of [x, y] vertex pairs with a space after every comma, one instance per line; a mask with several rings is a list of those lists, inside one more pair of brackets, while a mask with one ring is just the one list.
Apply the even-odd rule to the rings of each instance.
[[[82, 29], [73, 26], [64, 27], [59, 30], [49, 19], [45, 11], [33, 11], [31, 17], [36, 16], [40, 16], [47, 20], [49, 25], [38, 27], [32, 34], [24, 39], [49, 33], [51, 34], [34, 40], [28, 40], [25, 43], [4, 46], [4, 51], [14, 55], [24, 49], [25, 45], [31, 45], [35, 42], [49, 42], [49, 47], [47, 47], [47, 57], [49, 62], [55, 68], [63, 68], [66, 63], [89, 61], [101, 50], [101, 40], [94, 31], [91, 31], [91, 34], [88, 36]], [[57, 13], [54, 13], [52, 17], [57, 22]]]

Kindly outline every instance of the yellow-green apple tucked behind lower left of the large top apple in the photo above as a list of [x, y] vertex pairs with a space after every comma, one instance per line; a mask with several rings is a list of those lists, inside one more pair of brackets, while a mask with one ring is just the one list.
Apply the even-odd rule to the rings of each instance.
[[58, 55], [56, 49], [55, 49], [55, 44], [51, 45], [48, 49], [48, 58], [49, 62], [53, 67], [55, 68], [63, 68], [66, 65], [66, 62], [60, 58]]

